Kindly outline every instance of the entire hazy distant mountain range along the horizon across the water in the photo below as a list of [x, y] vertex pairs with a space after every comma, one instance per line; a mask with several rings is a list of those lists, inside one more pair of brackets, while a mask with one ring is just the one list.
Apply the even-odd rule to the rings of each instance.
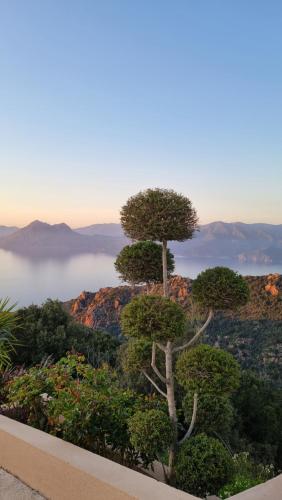
[[[40, 221], [22, 229], [0, 226], [0, 248], [28, 255], [116, 255], [128, 242], [120, 224], [93, 224], [75, 230], [66, 224]], [[170, 242], [169, 246], [177, 257], [282, 264], [282, 224], [212, 222], [202, 225], [192, 240]]]

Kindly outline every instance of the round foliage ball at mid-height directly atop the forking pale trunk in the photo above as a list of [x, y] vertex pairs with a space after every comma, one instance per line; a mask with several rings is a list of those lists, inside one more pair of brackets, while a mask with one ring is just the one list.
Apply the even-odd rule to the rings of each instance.
[[166, 297], [140, 295], [127, 304], [121, 315], [122, 333], [156, 341], [174, 340], [185, 332], [182, 308]]

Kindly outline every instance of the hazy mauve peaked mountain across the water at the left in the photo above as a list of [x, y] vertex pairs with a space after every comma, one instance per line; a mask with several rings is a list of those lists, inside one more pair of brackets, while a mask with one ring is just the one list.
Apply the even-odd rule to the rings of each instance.
[[64, 257], [87, 252], [115, 255], [123, 246], [124, 238], [82, 235], [67, 224], [50, 225], [38, 220], [0, 237], [0, 248], [40, 257]]

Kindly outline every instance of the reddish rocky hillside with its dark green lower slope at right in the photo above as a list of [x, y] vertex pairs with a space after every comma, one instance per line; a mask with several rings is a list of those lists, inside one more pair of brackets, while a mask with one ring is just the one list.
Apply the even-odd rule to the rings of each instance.
[[[233, 314], [218, 313], [205, 341], [232, 352], [245, 368], [282, 384], [282, 276], [247, 276], [251, 298], [248, 305]], [[170, 296], [183, 305], [188, 318], [197, 317], [191, 303], [192, 280], [175, 276], [170, 280]], [[79, 322], [93, 329], [120, 334], [119, 318], [130, 299], [144, 293], [143, 287], [102, 288], [96, 293], [82, 292], [66, 303]], [[162, 293], [160, 285], [150, 293]]]

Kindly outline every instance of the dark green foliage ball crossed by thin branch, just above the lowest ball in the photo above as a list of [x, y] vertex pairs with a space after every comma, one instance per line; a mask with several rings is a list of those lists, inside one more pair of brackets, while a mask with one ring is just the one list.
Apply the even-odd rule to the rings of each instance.
[[[193, 412], [193, 394], [188, 392], [182, 402], [185, 420], [191, 422]], [[197, 418], [195, 431], [205, 432], [208, 435], [220, 435], [229, 437], [234, 421], [233, 406], [226, 396], [211, 393], [203, 393], [198, 399]]]

